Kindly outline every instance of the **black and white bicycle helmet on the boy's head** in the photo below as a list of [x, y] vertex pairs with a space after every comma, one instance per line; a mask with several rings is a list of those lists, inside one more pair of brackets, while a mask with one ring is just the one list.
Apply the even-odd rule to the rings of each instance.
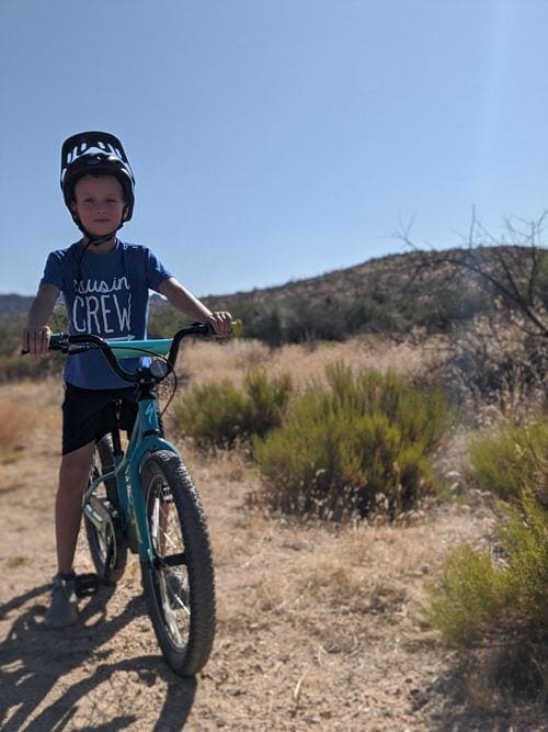
[[[75, 185], [83, 176], [114, 176], [122, 184], [126, 207], [119, 226], [106, 237], [90, 237], [78, 214], [72, 210]], [[132, 218], [135, 203], [135, 179], [122, 143], [107, 132], [80, 132], [62, 143], [60, 184], [65, 204], [85, 236], [93, 244], [111, 238]]]

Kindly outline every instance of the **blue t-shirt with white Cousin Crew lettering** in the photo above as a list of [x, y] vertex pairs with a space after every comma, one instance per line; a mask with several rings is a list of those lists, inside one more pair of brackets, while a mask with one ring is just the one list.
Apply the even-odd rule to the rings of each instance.
[[[93, 246], [93, 245], [91, 245]], [[81, 241], [68, 249], [52, 251], [43, 283], [62, 293], [71, 334], [91, 333], [107, 340], [140, 340], [147, 337], [148, 293], [172, 277], [147, 249], [117, 241], [106, 254]], [[122, 365], [134, 371], [138, 359], [124, 359]], [[65, 380], [81, 388], [127, 387], [101, 351], [90, 350], [67, 358]]]

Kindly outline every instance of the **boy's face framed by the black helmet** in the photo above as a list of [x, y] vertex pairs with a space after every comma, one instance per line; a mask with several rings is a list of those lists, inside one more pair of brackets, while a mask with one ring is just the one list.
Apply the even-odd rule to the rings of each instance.
[[122, 183], [114, 176], [84, 176], [75, 185], [71, 206], [85, 230], [105, 236], [118, 228], [125, 215]]

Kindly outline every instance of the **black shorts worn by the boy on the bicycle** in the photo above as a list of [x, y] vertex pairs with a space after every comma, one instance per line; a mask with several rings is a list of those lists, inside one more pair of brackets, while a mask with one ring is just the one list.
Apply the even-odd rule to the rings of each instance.
[[137, 415], [135, 390], [80, 388], [65, 384], [62, 402], [62, 454], [73, 452], [84, 444], [100, 440], [116, 427], [115, 403], [121, 401], [119, 427], [128, 432]]

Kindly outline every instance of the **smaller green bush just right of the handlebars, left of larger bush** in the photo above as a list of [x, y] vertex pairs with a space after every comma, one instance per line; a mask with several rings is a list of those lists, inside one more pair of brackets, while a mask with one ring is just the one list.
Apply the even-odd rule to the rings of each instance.
[[230, 447], [277, 427], [290, 392], [288, 375], [271, 380], [256, 369], [246, 374], [242, 390], [229, 379], [192, 386], [175, 403], [173, 416], [180, 431], [198, 447]]

